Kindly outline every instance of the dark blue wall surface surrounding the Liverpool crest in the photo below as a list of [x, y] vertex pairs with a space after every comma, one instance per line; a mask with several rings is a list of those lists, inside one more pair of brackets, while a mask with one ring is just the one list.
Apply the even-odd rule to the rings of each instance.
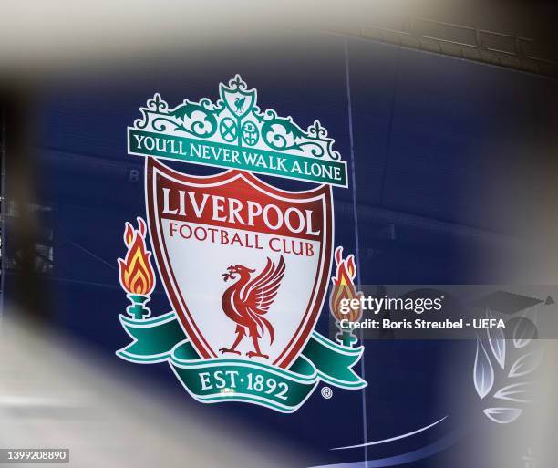
[[[317, 118], [336, 139], [349, 174], [356, 174], [349, 190], [334, 192], [336, 244], [355, 251], [357, 239], [362, 284], [505, 282], [499, 265], [522, 255], [507, 242], [517, 234], [517, 216], [507, 206], [536, 209], [522, 176], [529, 158], [536, 158], [532, 149], [542, 120], [558, 107], [558, 100], [548, 99], [554, 84], [366, 40], [308, 37], [275, 47], [223, 46], [180, 63], [139, 63], [133, 71], [59, 83], [44, 95], [35, 116], [34, 155], [37, 197], [56, 212], [48, 286], [59, 328], [87, 340], [108, 366], [130, 367], [114, 357], [127, 342], [118, 322], [126, 298], [116, 259], [124, 223], [143, 214], [144, 204], [142, 160], [127, 155], [126, 127], [154, 91], [171, 103], [214, 99], [218, 83], [236, 73], [258, 89], [263, 108], [291, 115], [303, 127]], [[9, 299], [9, 278], [6, 286]], [[160, 285], [152, 304], [168, 307]], [[323, 314], [318, 326], [324, 333], [327, 320]], [[468, 346], [367, 342], [367, 439], [410, 432], [443, 416], [440, 369]], [[163, 365], [139, 373], [182, 391]], [[186, 395], [182, 400], [186, 417], [196, 403]], [[315, 464], [365, 456], [362, 449], [329, 450], [365, 439], [362, 392], [336, 390], [334, 399], [324, 400], [318, 391], [293, 415], [236, 404], [204, 410], [251, 421], [270, 438], [310, 450]], [[368, 457], [389, 454], [382, 450], [371, 448]]]

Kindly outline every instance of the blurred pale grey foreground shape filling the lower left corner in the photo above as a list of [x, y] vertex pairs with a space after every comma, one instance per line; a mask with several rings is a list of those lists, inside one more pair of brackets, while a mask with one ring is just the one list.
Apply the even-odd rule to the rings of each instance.
[[202, 419], [146, 382], [109, 376], [55, 336], [5, 322], [0, 348], [0, 447], [69, 448], [70, 463], [54, 466], [80, 468], [304, 465], [242, 421]]

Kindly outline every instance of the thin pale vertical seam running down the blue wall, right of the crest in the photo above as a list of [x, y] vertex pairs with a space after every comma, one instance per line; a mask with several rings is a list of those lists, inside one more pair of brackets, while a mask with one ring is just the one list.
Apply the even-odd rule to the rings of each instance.
[[[349, 142], [350, 142], [350, 156], [351, 156], [351, 185], [353, 191], [353, 217], [355, 219], [355, 258], [356, 258], [356, 286], [360, 289], [360, 246], [358, 235], [358, 213], [356, 209], [356, 165], [355, 165], [355, 139], [353, 135], [353, 109], [351, 103], [351, 79], [349, 69], [349, 52], [348, 41], [345, 37], [345, 75], [346, 75], [346, 101], [347, 101], [347, 117], [349, 128]], [[363, 339], [363, 330], [360, 330], [360, 340]], [[365, 355], [363, 353], [360, 359], [360, 375], [366, 380], [365, 377]], [[363, 443], [368, 442], [368, 427], [367, 427], [367, 389], [362, 391], [362, 425], [363, 425]], [[368, 462], [368, 447], [364, 446], [364, 460]]]

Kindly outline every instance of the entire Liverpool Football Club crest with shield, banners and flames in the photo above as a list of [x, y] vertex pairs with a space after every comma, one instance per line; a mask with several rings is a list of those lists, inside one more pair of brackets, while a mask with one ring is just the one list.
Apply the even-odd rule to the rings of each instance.
[[[356, 338], [335, 342], [315, 331], [332, 282], [334, 317], [338, 298], [357, 294], [354, 260], [341, 248], [331, 276], [332, 185], [346, 186], [334, 140], [317, 120], [305, 131], [260, 111], [239, 76], [220, 94], [215, 104], [185, 99], [174, 109], [156, 94], [129, 128], [129, 152], [146, 157], [147, 223], [125, 226], [119, 273], [130, 305], [120, 321], [133, 341], [117, 354], [168, 362], [191, 396], [208, 403], [292, 412], [320, 380], [363, 388], [352, 369], [363, 351]], [[196, 176], [162, 159], [224, 170]], [[254, 172], [314, 188], [284, 191]], [[155, 317], [147, 306], [153, 263], [171, 304]]]

